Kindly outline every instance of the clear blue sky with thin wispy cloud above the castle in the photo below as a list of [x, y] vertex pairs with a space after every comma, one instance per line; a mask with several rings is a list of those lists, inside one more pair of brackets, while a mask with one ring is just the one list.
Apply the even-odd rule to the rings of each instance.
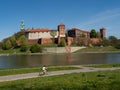
[[120, 38], [120, 0], [0, 0], [0, 41], [28, 28], [99, 31]]

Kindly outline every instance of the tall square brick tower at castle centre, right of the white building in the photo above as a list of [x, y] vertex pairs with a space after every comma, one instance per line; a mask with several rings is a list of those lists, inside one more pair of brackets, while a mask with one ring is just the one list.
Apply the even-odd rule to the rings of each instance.
[[60, 43], [61, 37], [65, 37], [65, 25], [64, 24], [58, 25], [58, 44]]

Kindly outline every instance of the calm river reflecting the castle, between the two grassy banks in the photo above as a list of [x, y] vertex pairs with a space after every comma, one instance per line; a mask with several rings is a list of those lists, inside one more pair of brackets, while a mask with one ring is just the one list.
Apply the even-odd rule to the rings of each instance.
[[0, 68], [111, 63], [120, 63], [120, 53], [68, 53], [0, 56]]

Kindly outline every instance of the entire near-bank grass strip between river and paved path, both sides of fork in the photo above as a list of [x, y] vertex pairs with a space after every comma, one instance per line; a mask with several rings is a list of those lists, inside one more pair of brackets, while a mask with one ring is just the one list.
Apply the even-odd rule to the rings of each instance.
[[[83, 65], [85, 67], [94, 67], [94, 68], [112, 68], [120, 67], [120, 64], [95, 64], [95, 65]], [[60, 70], [75, 70], [80, 69], [78, 67], [72, 66], [49, 66], [47, 70], [50, 71], [60, 71]], [[31, 67], [31, 68], [11, 68], [11, 69], [0, 69], [0, 76], [6, 75], [15, 75], [15, 74], [26, 74], [42, 72], [41, 67]]]

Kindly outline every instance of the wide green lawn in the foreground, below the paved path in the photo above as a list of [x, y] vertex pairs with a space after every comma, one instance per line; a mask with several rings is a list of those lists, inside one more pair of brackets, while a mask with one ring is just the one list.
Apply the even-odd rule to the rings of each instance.
[[74, 73], [0, 83], [0, 90], [119, 90], [120, 70]]

